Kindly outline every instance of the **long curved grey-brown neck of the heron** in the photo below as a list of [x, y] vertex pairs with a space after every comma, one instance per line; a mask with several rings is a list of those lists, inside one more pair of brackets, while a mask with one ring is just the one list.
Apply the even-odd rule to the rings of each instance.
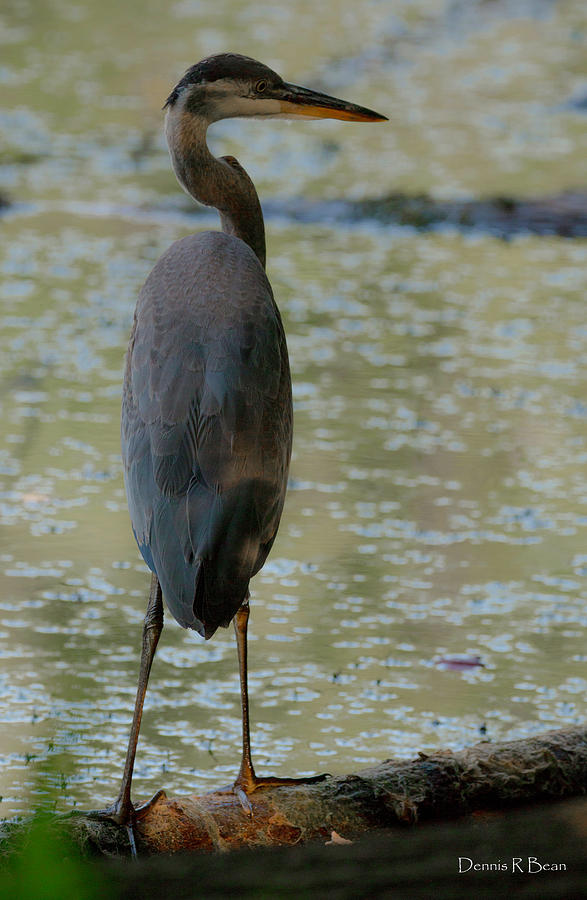
[[216, 159], [206, 143], [208, 121], [169, 110], [165, 134], [181, 186], [204, 206], [215, 206], [222, 230], [243, 240], [265, 267], [265, 226], [255, 185], [233, 156]]

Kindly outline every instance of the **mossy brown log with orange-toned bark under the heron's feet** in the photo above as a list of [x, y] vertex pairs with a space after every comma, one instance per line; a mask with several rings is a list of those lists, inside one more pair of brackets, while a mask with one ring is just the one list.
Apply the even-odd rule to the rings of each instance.
[[[366, 831], [587, 793], [587, 728], [524, 740], [482, 742], [457, 753], [387, 760], [356, 775], [262, 788], [247, 816], [230, 792], [167, 798], [136, 824], [143, 854], [226, 851], [356, 839]], [[89, 853], [128, 853], [124, 829], [77, 814], [76, 842]], [[336, 834], [332, 836], [333, 832]]]

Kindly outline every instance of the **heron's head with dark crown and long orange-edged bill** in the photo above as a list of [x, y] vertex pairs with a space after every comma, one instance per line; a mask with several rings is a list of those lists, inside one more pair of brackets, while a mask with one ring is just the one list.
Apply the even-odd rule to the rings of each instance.
[[189, 68], [164, 108], [178, 106], [209, 123], [237, 116], [386, 121], [363, 106], [288, 84], [263, 63], [236, 53], [209, 56]]

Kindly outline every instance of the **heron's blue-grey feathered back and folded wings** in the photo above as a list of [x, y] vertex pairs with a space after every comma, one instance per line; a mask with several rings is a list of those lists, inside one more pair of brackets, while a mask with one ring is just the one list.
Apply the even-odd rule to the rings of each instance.
[[283, 328], [260, 263], [237, 238], [178, 241], [149, 276], [122, 447], [141, 552], [180, 624], [210, 636], [273, 543], [291, 450]]

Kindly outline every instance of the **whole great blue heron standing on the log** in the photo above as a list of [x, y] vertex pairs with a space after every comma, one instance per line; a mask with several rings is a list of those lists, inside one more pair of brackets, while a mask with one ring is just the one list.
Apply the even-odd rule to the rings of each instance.
[[180, 625], [206, 639], [234, 619], [243, 753], [233, 790], [244, 809], [259, 786], [298, 780], [255, 774], [247, 697], [249, 581], [277, 534], [291, 454], [287, 346], [265, 274], [257, 192], [234, 157], [212, 156], [206, 130], [234, 116], [385, 119], [233, 53], [188, 69], [164, 108], [175, 174], [195, 200], [217, 208], [222, 232], [190, 235], [161, 256], [139, 294], [126, 359], [126, 491], [153, 574], [124, 775], [103, 815], [127, 825], [131, 843], [132, 822], [149, 806], [132, 806], [131, 779], [162, 597]]

